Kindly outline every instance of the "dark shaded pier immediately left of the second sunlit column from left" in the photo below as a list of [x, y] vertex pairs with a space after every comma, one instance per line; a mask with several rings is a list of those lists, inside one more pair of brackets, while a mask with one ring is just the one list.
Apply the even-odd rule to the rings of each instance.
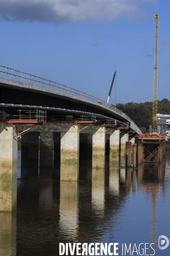
[[52, 177], [53, 132], [40, 132], [40, 175]]

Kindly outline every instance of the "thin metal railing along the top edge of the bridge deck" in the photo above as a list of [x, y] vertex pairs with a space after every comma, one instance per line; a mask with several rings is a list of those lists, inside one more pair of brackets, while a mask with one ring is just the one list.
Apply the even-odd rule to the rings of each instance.
[[[100, 104], [102, 106], [105, 106], [115, 112], [117, 112], [119, 115], [123, 115], [126, 117], [129, 121], [132, 121], [125, 113], [123, 113], [121, 110], [117, 109], [116, 107], [109, 105], [104, 100], [100, 100], [92, 95], [86, 94], [82, 91], [76, 90], [74, 88], [71, 88], [66, 85], [62, 85], [58, 82], [54, 82], [52, 80], [45, 79], [43, 77], [37, 77], [35, 75], [21, 72], [19, 70], [16, 70], [14, 68], [9, 68], [3, 65], [0, 65], [0, 77], [9, 79], [12, 81], [17, 82], [23, 82], [29, 85], [37, 85], [43, 88], [52, 89], [54, 91], [63, 92], [65, 94], [69, 94], [75, 97], [79, 97], [84, 100], [89, 100], [94, 103]], [[133, 122], [133, 121], [132, 121]], [[134, 123], [134, 122], [133, 122]]]

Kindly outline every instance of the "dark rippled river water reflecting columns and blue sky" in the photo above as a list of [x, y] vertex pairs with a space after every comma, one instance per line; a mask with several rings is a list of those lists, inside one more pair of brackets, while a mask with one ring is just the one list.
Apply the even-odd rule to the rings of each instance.
[[145, 246], [144, 255], [169, 256], [158, 237], [170, 239], [170, 156], [135, 170], [124, 159], [105, 170], [90, 166], [81, 161], [79, 182], [23, 179], [18, 150], [17, 210], [0, 212], [0, 256], [58, 256], [59, 243], [118, 243], [118, 255], [126, 243], [131, 255]]

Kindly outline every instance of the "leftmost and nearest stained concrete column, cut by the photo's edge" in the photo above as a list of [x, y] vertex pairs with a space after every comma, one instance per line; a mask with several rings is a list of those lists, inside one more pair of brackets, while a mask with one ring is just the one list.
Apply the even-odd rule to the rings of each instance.
[[0, 124], [0, 211], [17, 208], [17, 138], [13, 124]]

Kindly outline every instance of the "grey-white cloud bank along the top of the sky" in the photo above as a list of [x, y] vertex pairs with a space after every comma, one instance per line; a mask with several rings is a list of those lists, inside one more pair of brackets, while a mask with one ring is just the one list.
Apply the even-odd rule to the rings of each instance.
[[[145, 0], [152, 3], [153, 0]], [[136, 17], [136, 0], [0, 0], [0, 15], [7, 20], [81, 22]]]

